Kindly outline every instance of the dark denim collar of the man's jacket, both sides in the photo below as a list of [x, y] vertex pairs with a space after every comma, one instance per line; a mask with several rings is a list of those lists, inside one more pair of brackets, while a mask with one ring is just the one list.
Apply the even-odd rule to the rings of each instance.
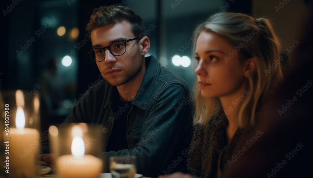
[[[135, 95], [135, 99], [133, 103], [141, 108], [146, 110], [147, 101], [150, 97], [150, 93], [153, 90], [153, 85], [156, 82], [160, 70], [161, 64], [156, 60], [155, 57], [149, 56], [145, 58], [146, 60], [146, 72], [143, 76], [141, 86]], [[109, 89], [109, 98], [107, 99], [104, 107], [106, 108], [110, 103], [112, 103], [113, 99], [118, 95], [117, 88], [115, 86], [110, 87]]]

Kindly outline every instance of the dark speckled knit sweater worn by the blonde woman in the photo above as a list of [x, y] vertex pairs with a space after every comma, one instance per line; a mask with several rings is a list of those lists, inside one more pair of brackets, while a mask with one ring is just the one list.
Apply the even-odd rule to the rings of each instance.
[[187, 158], [188, 172], [198, 177], [219, 177], [249, 149], [252, 142], [247, 139], [253, 128], [238, 128], [227, 144], [227, 118], [210, 119], [207, 125], [197, 125], [192, 138], [192, 149]]

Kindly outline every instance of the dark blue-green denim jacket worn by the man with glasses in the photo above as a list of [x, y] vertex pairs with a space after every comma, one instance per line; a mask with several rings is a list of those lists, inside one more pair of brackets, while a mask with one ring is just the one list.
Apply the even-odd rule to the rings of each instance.
[[[126, 121], [128, 149], [103, 152], [105, 170], [108, 171], [110, 156], [127, 155], [136, 157], [137, 173], [144, 176], [187, 172], [185, 152], [194, 131], [192, 94], [182, 78], [161, 67], [153, 56], [145, 60], [146, 72]], [[102, 124], [105, 150], [118, 117], [111, 106], [116, 92], [116, 86], [103, 80], [89, 89], [64, 123]]]

